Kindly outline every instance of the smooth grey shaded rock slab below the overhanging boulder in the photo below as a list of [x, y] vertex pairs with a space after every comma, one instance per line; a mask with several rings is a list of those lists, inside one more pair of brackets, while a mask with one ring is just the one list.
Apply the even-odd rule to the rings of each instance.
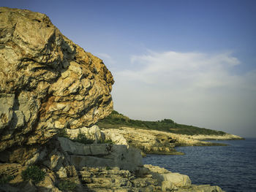
[[119, 167], [135, 171], [143, 166], [140, 151], [126, 145], [92, 144], [84, 145], [59, 138], [61, 148], [69, 154], [69, 161], [76, 169], [89, 167]]

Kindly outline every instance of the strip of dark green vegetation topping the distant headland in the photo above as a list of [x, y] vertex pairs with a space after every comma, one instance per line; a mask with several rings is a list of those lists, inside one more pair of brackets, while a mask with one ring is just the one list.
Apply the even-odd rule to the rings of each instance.
[[199, 128], [196, 126], [187, 126], [175, 123], [173, 120], [164, 119], [157, 121], [146, 121], [146, 120], [132, 120], [121, 113], [113, 112], [97, 123], [99, 128], [120, 128], [122, 126], [134, 127], [134, 128], [148, 128], [157, 131], [167, 131], [173, 134], [206, 134], [206, 135], [224, 135], [223, 131], [214, 131], [207, 128]]

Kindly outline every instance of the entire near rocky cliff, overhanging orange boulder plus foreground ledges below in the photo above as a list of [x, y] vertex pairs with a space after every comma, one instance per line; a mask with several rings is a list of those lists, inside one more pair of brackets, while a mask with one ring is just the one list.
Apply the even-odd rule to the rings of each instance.
[[143, 165], [125, 136], [100, 131], [112, 74], [46, 15], [0, 7], [0, 66], [0, 191], [222, 191]]

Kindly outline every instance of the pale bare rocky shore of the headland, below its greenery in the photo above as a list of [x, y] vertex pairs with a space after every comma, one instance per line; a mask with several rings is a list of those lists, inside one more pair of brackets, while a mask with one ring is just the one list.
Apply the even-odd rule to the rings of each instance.
[[224, 143], [206, 142], [204, 140], [244, 139], [232, 134], [225, 136], [184, 135], [165, 131], [140, 129], [132, 127], [108, 128], [101, 130], [108, 139], [117, 145], [136, 147], [145, 154], [182, 155], [175, 147], [187, 146], [226, 146]]

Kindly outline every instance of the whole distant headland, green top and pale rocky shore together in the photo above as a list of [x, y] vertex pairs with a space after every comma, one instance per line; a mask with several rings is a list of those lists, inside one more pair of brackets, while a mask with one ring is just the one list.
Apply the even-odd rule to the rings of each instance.
[[204, 142], [203, 140], [244, 139], [196, 126], [175, 123], [173, 120], [132, 120], [116, 111], [97, 123], [102, 132], [114, 142], [137, 147], [146, 153], [182, 155], [175, 147], [180, 146], [218, 146], [222, 143]]

